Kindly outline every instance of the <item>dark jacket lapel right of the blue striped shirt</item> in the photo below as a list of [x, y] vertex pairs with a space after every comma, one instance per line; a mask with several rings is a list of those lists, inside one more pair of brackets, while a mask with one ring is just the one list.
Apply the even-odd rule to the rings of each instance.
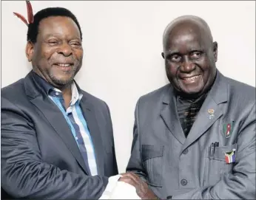
[[81, 109], [84, 113], [84, 118], [87, 121], [87, 125], [90, 131], [90, 136], [92, 138], [92, 143], [95, 152], [95, 159], [97, 164], [98, 175], [104, 175], [104, 148], [101, 139], [101, 132], [98, 128], [97, 119], [95, 117], [94, 106], [86, 97], [82, 97], [80, 103]]

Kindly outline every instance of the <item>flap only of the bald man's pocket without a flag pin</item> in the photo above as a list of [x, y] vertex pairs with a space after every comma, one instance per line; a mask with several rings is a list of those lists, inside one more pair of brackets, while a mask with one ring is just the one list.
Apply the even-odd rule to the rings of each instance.
[[152, 159], [155, 157], [161, 157], [164, 153], [164, 146], [159, 145], [142, 145], [142, 161], [146, 159]]

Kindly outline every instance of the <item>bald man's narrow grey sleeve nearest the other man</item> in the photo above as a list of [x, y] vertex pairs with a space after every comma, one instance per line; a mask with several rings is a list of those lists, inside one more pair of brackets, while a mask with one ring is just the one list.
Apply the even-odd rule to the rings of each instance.
[[144, 169], [142, 158], [141, 158], [141, 142], [139, 135], [139, 102], [138, 100], [135, 108], [135, 123], [133, 126], [133, 140], [132, 140], [132, 151], [131, 156], [127, 165], [127, 171], [132, 171], [146, 181], [146, 171]]

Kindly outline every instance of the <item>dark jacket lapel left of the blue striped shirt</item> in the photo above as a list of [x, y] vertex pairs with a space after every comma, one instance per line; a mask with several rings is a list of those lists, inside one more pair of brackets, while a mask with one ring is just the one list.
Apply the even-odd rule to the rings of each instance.
[[33, 105], [35, 105], [42, 114], [44, 114], [44, 117], [46, 117], [47, 121], [53, 126], [54, 130], [67, 145], [67, 148], [69, 148], [78, 164], [85, 171], [85, 173], [89, 174], [78, 145], [73, 137], [72, 131], [70, 130], [69, 125], [67, 125], [67, 121], [59, 108], [55, 106], [55, 103], [53, 103], [52, 100], [47, 97], [47, 94], [40, 91], [41, 89], [36, 81], [33, 80], [33, 75], [31, 72], [25, 78], [25, 88], [27, 95], [31, 98], [30, 102], [33, 103]]

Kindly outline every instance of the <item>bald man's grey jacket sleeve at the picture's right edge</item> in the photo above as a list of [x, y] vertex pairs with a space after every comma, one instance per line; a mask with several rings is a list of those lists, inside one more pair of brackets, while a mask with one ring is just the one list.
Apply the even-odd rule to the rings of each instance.
[[255, 125], [254, 105], [240, 128], [233, 173], [225, 173], [215, 185], [172, 196], [172, 199], [256, 199]]

